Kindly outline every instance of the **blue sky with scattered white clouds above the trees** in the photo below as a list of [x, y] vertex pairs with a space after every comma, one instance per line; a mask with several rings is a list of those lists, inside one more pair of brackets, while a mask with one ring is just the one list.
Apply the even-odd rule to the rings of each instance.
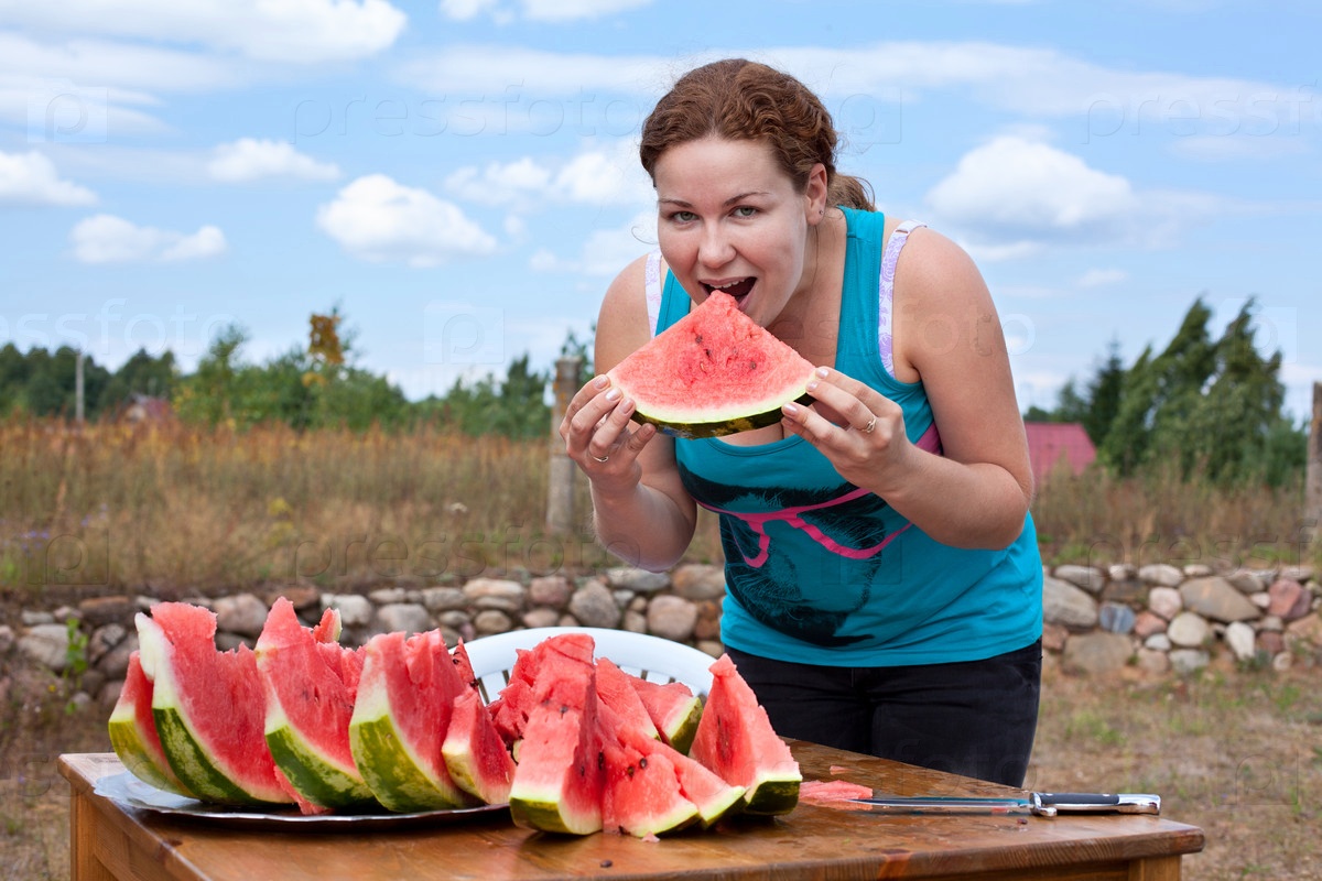
[[1309, 1], [0, 0], [0, 342], [190, 370], [336, 305], [410, 398], [550, 367], [654, 242], [635, 139], [723, 55], [822, 95], [879, 206], [962, 243], [1022, 407], [1196, 297], [1322, 380]]

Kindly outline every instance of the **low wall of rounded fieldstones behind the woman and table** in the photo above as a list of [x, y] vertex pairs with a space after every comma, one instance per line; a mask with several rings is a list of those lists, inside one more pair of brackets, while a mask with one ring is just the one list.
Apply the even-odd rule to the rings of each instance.
[[[690, 564], [669, 573], [616, 568], [583, 579], [477, 577], [457, 586], [391, 586], [362, 594], [296, 585], [189, 601], [215, 612], [222, 649], [254, 645], [270, 604], [286, 596], [308, 623], [327, 608], [338, 609], [346, 645], [393, 630], [440, 627], [455, 645], [460, 637], [578, 623], [652, 633], [715, 656], [723, 590], [719, 567]], [[1202, 565], [1060, 565], [1044, 573], [1043, 643], [1048, 663], [1084, 675], [1129, 666], [1157, 675], [1190, 674], [1218, 658], [1245, 668], [1317, 664], [1319, 590], [1314, 572], [1303, 567], [1216, 573]], [[118, 596], [29, 609], [17, 625], [0, 625], [0, 655], [17, 652], [49, 670], [66, 682], [75, 703], [112, 704], [128, 654], [137, 647], [134, 616], [153, 602]]]

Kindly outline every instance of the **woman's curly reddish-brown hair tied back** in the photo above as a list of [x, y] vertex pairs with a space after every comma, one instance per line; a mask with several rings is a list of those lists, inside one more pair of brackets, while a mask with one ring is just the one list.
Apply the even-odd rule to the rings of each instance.
[[836, 173], [836, 125], [806, 86], [789, 74], [744, 58], [715, 61], [676, 82], [642, 123], [639, 159], [656, 180], [669, 148], [703, 137], [768, 144], [802, 192], [813, 165], [826, 166], [832, 205], [876, 210], [867, 181]]

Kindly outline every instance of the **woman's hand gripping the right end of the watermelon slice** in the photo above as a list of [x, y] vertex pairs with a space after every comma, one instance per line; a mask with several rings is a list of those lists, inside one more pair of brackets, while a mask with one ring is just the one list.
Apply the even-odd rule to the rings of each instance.
[[916, 448], [904, 433], [904, 412], [875, 388], [829, 367], [808, 384], [812, 407], [785, 404], [781, 424], [830, 460], [841, 477], [886, 495], [912, 469]]

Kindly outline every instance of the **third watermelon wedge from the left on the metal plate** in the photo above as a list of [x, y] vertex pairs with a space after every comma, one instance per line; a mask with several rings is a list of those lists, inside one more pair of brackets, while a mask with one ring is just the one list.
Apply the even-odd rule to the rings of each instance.
[[266, 742], [276, 766], [304, 803], [346, 808], [374, 802], [349, 746], [362, 672], [361, 650], [336, 642], [340, 613], [327, 609], [305, 627], [293, 605], [271, 606], [256, 642], [256, 666], [266, 689]]

